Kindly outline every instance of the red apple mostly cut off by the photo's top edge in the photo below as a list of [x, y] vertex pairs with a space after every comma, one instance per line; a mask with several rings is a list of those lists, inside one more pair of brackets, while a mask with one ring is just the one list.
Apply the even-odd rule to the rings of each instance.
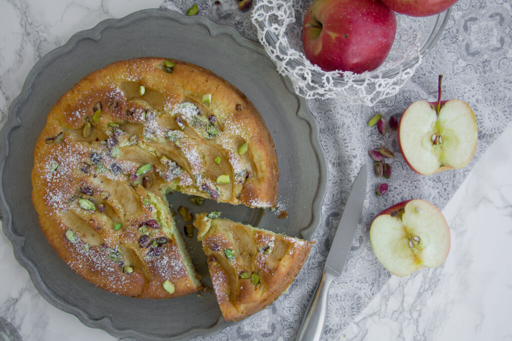
[[452, 7], [458, 0], [382, 0], [393, 11], [410, 16], [429, 16]]

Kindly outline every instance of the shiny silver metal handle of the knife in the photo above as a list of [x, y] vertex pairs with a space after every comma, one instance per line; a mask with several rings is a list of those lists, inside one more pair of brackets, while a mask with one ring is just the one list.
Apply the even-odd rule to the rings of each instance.
[[327, 315], [327, 294], [329, 285], [334, 279], [334, 275], [329, 270], [330, 268], [326, 267], [322, 273], [322, 278], [298, 329], [297, 341], [317, 341], [322, 336]]

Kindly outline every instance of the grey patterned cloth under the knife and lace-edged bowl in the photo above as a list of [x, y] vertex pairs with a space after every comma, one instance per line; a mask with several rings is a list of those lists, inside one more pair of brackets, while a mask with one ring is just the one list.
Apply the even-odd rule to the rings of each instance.
[[[236, 28], [257, 40], [250, 10], [239, 11], [234, 0], [165, 0], [162, 8], [186, 13], [196, 3], [199, 15]], [[512, 4], [508, 0], [460, 0], [453, 8], [445, 32], [424, 58], [414, 76], [394, 97], [372, 108], [347, 105], [340, 100], [309, 100], [309, 108], [320, 129], [321, 144], [329, 165], [328, 189], [322, 207], [323, 222], [313, 239], [316, 244], [301, 273], [278, 301], [264, 311], [229, 327], [214, 339], [293, 339], [321, 275], [334, 229], [360, 166], [373, 168], [368, 151], [387, 147], [393, 175], [383, 197], [373, 194], [381, 182], [370, 176], [369, 190], [347, 264], [329, 291], [325, 339], [340, 333], [364, 309], [390, 274], [375, 258], [370, 241], [370, 223], [378, 212], [403, 200], [419, 198], [443, 208], [486, 148], [512, 119]], [[400, 117], [415, 100], [437, 100], [437, 77], [443, 74], [443, 99], [459, 98], [474, 110], [479, 127], [479, 144], [470, 165], [462, 170], [432, 176], [414, 173], [402, 159], [396, 132], [382, 137], [367, 121], [376, 112], [389, 119]], [[414, 274], [412, 274], [414, 276]], [[198, 338], [201, 339], [201, 338]]]

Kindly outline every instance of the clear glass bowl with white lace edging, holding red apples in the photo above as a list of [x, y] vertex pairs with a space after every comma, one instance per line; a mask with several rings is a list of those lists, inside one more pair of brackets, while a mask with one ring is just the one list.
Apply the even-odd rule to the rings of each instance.
[[397, 14], [397, 35], [386, 61], [371, 72], [325, 72], [302, 52], [302, 23], [312, 0], [261, 0], [251, 20], [258, 39], [278, 71], [288, 76], [305, 98], [342, 98], [353, 104], [373, 105], [392, 96], [414, 74], [442, 33], [449, 13], [413, 18]]

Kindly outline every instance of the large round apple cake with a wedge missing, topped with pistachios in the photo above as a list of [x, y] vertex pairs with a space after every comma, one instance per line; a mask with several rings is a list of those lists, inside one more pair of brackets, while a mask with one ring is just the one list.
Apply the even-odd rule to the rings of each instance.
[[32, 199], [60, 257], [114, 293], [202, 287], [165, 193], [273, 207], [279, 169], [252, 103], [214, 73], [164, 58], [118, 61], [53, 106], [34, 150]]

